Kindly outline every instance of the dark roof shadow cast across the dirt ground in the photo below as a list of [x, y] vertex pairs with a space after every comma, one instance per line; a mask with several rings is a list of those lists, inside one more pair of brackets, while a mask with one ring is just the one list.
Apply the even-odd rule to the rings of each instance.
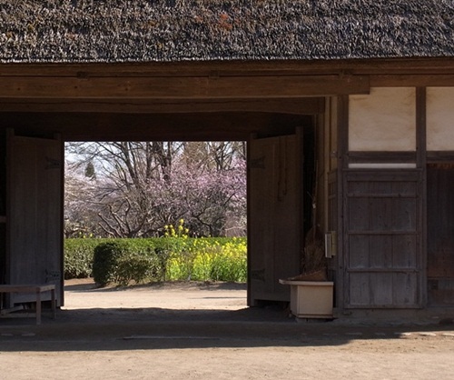
[[[150, 288], [150, 285], [146, 285]], [[179, 284], [155, 284], [154, 289]], [[191, 286], [213, 290], [205, 298], [220, 298], [215, 290], [241, 290], [238, 284]], [[135, 286], [141, 291], [143, 286]], [[123, 291], [70, 285], [67, 291], [86, 294]], [[130, 291], [128, 287], [127, 291]], [[126, 291], [126, 290], [125, 290]], [[197, 292], [195, 292], [197, 293]], [[224, 293], [225, 294], [225, 293]], [[234, 295], [234, 293], [232, 293]], [[196, 295], [187, 295], [188, 297]], [[234, 296], [222, 296], [226, 300]], [[195, 299], [195, 298], [194, 298]], [[171, 309], [160, 307], [94, 307], [58, 310], [52, 319], [44, 310], [43, 324], [33, 318], [0, 319], [0, 346], [5, 352], [120, 351], [213, 347], [339, 346], [356, 339], [397, 339], [412, 331], [452, 331], [454, 325], [361, 325], [339, 320], [298, 320], [285, 305], [222, 309]]]

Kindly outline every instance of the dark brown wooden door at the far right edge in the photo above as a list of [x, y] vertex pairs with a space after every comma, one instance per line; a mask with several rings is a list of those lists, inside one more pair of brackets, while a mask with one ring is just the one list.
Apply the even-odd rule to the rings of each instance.
[[454, 164], [428, 166], [428, 302], [454, 305]]

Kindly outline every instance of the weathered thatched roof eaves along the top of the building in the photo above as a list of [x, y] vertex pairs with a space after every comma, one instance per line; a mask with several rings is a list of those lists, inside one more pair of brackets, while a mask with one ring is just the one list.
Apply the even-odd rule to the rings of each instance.
[[0, 0], [0, 62], [454, 57], [454, 0]]

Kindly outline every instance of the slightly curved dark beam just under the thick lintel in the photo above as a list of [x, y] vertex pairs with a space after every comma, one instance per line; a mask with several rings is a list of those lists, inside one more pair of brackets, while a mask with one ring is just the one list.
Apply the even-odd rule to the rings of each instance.
[[0, 98], [0, 112], [102, 112], [128, 114], [184, 114], [265, 112], [317, 115], [325, 110], [323, 97], [288, 99], [143, 100], [143, 99], [38, 99]]

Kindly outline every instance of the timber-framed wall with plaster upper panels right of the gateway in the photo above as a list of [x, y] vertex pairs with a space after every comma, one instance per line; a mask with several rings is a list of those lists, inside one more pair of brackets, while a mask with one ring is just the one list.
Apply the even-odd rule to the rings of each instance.
[[454, 305], [453, 88], [390, 82], [349, 96], [348, 132], [340, 130], [344, 307]]

